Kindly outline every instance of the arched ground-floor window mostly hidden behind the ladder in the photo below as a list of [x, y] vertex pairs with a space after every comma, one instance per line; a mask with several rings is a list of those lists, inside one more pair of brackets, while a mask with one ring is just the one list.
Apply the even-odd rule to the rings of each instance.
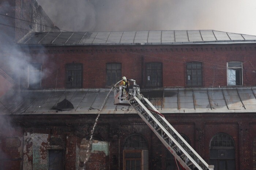
[[[186, 142], [188, 142], [189, 145], [191, 145], [191, 141], [186, 135], [184, 135], [184, 134], [180, 134], [180, 135], [182, 136], [182, 138], [185, 139]], [[165, 167], [166, 167], [166, 170], [177, 170], [177, 166], [176, 166], [176, 163], [175, 163], [175, 160], [174, 160], [174, 156], [167, 149], [166, 149]], [[180, 166], [179, 166], [179, 169], [181, 169]]]

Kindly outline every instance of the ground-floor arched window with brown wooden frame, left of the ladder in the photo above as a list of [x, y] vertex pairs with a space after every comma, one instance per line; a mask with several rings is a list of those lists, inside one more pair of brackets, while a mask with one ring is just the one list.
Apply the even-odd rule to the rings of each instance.
[[124, 142], [124, 167], [125, 170], [148, 169], [148, 143], [139, 134], [133, 134]]

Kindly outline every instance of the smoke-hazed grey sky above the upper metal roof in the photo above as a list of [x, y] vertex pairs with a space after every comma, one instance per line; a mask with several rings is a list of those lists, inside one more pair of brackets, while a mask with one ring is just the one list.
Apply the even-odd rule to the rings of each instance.
[[37, 0], [62, 31], [196, 30], [256, 35], [255, 0]]

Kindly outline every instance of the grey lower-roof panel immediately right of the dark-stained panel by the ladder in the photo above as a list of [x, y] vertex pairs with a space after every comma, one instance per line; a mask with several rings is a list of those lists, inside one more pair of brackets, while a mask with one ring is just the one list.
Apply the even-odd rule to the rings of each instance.
[[162, 110], [178, 109], [178, 90], [164, 90]]

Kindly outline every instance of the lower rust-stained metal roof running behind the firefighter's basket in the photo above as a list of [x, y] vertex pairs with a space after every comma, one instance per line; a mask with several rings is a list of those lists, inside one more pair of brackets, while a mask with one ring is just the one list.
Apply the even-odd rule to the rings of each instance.
[[[161, 113], [255, 112], [256, 87], [165, 88], [141, 90]], [[74, 109], [52, 109], [63, 99]], [[10, 92], [0, 98], [1, 114], [133, 114], [131, 106], [113, 104], [110, 89], [33, 90]]]

